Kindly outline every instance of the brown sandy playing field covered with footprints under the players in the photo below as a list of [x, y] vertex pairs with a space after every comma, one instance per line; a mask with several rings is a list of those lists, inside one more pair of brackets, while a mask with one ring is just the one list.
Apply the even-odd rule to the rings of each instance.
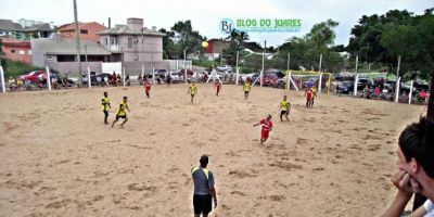
[[[212, 216], [378, 216], [394, 195], [397, 135], [422, 106], [302, 92], [199, 85], [0, 94], [0, 216], [192, 216], [190, 169], [209, 155]], [[103, 124], [129, 97], [129, 122]], [[288, 93], [291, 122], [278, 104]], [[110, 119], [113, 120], [112, 108]], [[265, 145], [259, 127], [273, 115]]]

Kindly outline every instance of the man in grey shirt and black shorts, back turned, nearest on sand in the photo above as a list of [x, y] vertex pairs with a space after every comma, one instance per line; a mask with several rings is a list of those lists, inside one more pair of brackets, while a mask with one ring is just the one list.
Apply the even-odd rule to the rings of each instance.
[[193, 206], [194, 217], [207, 217], [214, 208], [217, 207], [217, 193], [214, 187], [214, 175], [206, 166], [208, 165], [208, 156], [202, 155], [199, 161], [201, 165], [191, 169], [191, 176], [194, 182]]

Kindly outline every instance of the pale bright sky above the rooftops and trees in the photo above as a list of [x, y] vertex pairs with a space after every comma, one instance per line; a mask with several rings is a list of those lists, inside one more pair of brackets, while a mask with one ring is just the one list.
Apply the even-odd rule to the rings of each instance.
[[[225, 37], [218, 23], [222, 18], [301, 18], [299, 33], [250, 34], [251, 40], [267, 46], [278, 46], [292, 36], [303, 36], [316, 23], [332, 18], [340, 25], [335, 28], [335, 44], [347, 44], [350, 29], [362, 15], [384, 14], [394, 9], [421, 14], [434, 8], [433, 0], [77, 0], [78, 18], [81, 22], [98, 22], [107, 25], [126, 24], [127, 17], [141, 17], [149, 28], [169, 29], [177, 21], [191, 20], [193, 28], [207, 38]], [[28, 18], [54, 22], [56, 25], [74, 22], [73, 0], [0, 0], [0, 18], [17, 22]]]

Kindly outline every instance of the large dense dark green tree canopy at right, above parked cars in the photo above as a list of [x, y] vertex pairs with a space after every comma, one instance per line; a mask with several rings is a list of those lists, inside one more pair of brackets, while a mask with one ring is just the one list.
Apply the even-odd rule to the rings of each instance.
[[[426, 78], [434, 69], [434, 9], [423, 15], [392, 10], [384, 15], [363, 15], [352, 29], [346, 50], [359, 61], [386, 65], [395, 72], [398, 55], [400, 73]], [[408, 74], [408, 75], [406, 75]]]

